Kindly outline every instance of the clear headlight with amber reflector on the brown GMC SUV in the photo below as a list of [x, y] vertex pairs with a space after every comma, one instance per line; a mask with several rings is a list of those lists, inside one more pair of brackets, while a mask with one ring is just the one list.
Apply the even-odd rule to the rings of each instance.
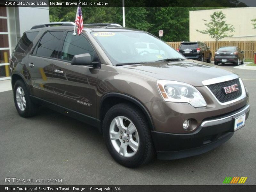
[[178, 81], [158, 80], [157, 86], [165, 101], [189, 103], [193, 107], [206, 106], [201, 93], [190, 84]]

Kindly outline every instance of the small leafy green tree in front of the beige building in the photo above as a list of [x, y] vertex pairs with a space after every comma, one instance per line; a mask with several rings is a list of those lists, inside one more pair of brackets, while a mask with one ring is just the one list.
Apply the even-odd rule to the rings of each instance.
[[220, 12], [214, 12], [211, 15], [211, 20], [210, 22], [206, 21], [204, 25], [206, 26], [205, 30], [198, 30], [196, 31], [202, 33], [202, 34], [209, 34], [211, 38], [215, 39], [216, 41], [216, 49], [217, 49], [217, 44], [220, 39], [223, 39], [224, 37], [230, 37], [233, 36], [232, 34], [228, 35], [227, 32], [234, 32], [234, 27], [233, 25], [227, 24], [226, 21], [224, 20], [226, 18], [225, 14], [220, 11]]

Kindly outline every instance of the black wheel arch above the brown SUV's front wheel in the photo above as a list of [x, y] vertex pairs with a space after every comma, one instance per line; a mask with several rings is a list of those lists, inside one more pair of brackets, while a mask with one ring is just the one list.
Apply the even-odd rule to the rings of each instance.
[[[129, 102], [135, 105], [136, 107], [140, 108], [140, 110], [143, 112], [143, 114], [146, 116], [148, 120], [150, 130], [154, 130], [152, 117], [150, 116], [150, 113], [148, 112], [147, 108], [143, 105], [143, 103], [129, 95], [115, 92], [105, 94], [100, 100], [98, 119], [101, 121], [101, 125], [103, 122], [102, 120], [106, 115], [108, 109], [122, 102]], [[100, 127], [100, 132], [102, 132], [102, 126]]]

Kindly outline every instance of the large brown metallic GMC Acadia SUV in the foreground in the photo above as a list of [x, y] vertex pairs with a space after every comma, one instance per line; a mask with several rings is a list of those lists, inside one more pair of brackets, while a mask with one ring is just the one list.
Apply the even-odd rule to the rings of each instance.
[[202, 154], [244, 126], [250, 105], [236, 74], [144, 31], [92, 24], [78, 36], [73, 27], [34, 26], [20, 39], [10, 58], [20, 116], [44, 105], [93, 125], [127, 167]]

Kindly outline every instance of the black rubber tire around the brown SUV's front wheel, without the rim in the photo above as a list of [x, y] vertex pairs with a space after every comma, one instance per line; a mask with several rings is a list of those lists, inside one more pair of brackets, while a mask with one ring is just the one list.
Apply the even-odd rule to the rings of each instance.
[[[110, 125], [117, 116], [129, 118], [137, 129], [140, 141], [139, 147], [135, 155], [131, 157], [125, 157], [119, 154], [111, 142], [109, 135]], [[106, 116], [104, 117], [102, 126], [103, 137], [108, 151], [117, 163], [129, 168], [134, 168], [142, 164], [147, 164], [155, 156], [155, 148], [153, 146], [147, 118], [136, 106], [129, 103], [116, 104], [108, 110]]]

